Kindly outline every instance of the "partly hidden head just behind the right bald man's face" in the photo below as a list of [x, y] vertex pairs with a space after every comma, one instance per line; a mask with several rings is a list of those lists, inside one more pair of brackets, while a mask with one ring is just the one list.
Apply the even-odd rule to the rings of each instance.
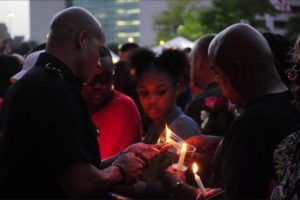
[[190, 54], [191, 79], [193, 84], [199, 88], [206, 88], [215, 81], [214, 74], [208, 63], [208, 47], [214, 39], [215, 34], [208, 34], [200, 37]]

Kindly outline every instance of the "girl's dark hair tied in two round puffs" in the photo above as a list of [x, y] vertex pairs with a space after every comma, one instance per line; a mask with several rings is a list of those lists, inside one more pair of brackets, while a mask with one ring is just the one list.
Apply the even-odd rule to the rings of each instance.
[[174, 83], [178, 83], [186, 81], [189, 71], [188, 58], [180, 50], [167, 49], [156, 56], [150, 49], [140, 48], [131, 54], [129, 60], [136, 70], [137, 79], [143, 72], [158, 71], [167, 73]]

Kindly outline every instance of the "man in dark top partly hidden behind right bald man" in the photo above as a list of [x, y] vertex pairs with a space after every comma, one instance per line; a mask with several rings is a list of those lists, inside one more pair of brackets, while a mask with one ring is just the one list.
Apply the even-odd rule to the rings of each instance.
[[[208, 34], [199, 38], [190, 54], [191, 79], [202, 92], [186, 106], [184, 113], [193, 118], [205, 134], [224, 136], [236, 116], [234, 109], [229, 108], [228, 99], [222, 95], [208, 63], [208, 46], [215, 35]], [[208, 107], [210, 99], [214, 100], [215, 104]], [[224, 102], [220, 102], [221, 100]], [[205, 114], [208, 115], [207, 120], [203, 117]]]

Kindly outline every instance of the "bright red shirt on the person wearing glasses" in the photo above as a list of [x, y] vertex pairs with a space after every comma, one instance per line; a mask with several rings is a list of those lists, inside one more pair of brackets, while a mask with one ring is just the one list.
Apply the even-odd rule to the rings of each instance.
[[113, 90], [113, 97], [92, 115], [100, 131], [98, 137], [101, 159], [106, 159], [142, 140], [142, 124], [134, 101]]

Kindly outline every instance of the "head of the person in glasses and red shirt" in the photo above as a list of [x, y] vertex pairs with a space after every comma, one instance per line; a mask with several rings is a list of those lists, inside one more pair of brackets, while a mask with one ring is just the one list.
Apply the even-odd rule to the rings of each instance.
[[112, 94], [114, 79], [112, 56], [106, 47], [100, 49], [100, 55], [100, 65], [94, 77], [85, 82], [81, 89], [81, 94], [92, 112], [97, 111]]

